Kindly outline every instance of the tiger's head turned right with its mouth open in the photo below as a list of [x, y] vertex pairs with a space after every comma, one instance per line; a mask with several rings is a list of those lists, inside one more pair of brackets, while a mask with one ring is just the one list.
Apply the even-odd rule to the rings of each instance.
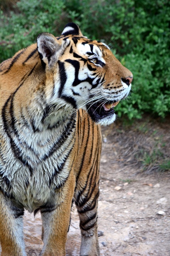
[[53, 80], [51, 104], [83, 108], [97, 124], [115, 121], [114, 107], [128, 96], [133, 75], [107, 45], [68, 23], [60, 37], [38, 35], [37, 49], [46, 77]]

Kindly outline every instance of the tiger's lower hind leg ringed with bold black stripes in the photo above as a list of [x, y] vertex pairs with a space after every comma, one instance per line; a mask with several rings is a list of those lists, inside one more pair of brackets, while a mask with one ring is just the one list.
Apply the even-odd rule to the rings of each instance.
[[78, 209], [81, 229], [80, 256], [100, 256], [98, 231], [97, 231], [97, 207], [99, 188], [91, 188], [88, 193], [78, 196], [75, 200]]

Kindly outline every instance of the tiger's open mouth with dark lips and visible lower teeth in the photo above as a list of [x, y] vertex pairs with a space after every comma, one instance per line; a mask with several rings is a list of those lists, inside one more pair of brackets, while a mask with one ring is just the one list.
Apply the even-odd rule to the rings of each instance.
[[87, 105], [88, 113], [91, 118], [96, 121], [96, 119], [102, 119], [106, 116], [113, 115], [115, 113], [114, 107], [118, 105], [119, 101], [99, 101], [94, 104]]

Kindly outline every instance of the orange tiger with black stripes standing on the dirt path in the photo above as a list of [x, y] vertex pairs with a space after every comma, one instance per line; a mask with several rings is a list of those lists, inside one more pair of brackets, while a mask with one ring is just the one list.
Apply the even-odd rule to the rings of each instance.
[[131, 89], [132, 73], [109, 47], [68, 23], [0, 65], [1, 256], [26, 256], [23, 215], [40, 211], [41, 256], [64, 256], [71, 206], [80, 256], [99, 256], [101, 125]]

